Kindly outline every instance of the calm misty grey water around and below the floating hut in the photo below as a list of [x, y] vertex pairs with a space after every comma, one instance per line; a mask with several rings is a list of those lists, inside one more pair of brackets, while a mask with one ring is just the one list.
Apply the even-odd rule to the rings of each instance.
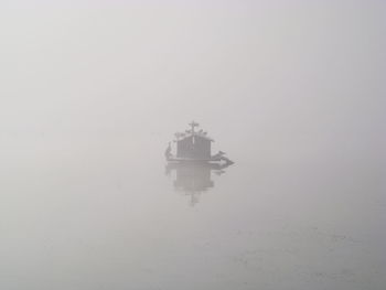
[[256, 144], [228, 151], [236, 163], [219, 175], [201, 171], [213, 186], [192, 196], [174, 187], [175, 169], [165, 174], [160, 136], [14, 137], [1, 171], [2, 288], [382, 289], [374, 161]]

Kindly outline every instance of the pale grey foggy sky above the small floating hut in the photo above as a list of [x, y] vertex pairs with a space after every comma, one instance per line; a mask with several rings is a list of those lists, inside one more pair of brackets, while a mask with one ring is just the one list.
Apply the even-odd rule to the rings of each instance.
[[380, 129], [383, 1], [93, 2], [2, 2], [2, 130]]

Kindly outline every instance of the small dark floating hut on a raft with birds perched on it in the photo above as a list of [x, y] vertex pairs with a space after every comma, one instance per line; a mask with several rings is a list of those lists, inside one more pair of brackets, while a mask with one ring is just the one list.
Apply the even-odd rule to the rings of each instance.
[[202, 129], [197, 129], [200, 125], [195, 121], [189, 123], [190, 128], [183, 132], [176, 132], [173, 142], [176, 144], [175, 154], [172, 153], [172, 142], [164, 152], [169, 163], [211, 163], [230, 165], [234, 162], [226, 157], [226, 153], [218, 151], [212, 154], [212, 143], [214, 140], [207, 136]]

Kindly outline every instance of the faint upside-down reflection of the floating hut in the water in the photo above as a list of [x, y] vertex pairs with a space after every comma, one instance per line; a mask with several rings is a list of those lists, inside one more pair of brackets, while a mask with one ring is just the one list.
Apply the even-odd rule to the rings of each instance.
[[200, 195], [214, 187], [212, 173], [222, 175], [230, 163], [214, 164], [207, 162], [168, 163], [167, 175], [173, 175], [173, 186], [176, 191], [190, 196], [190, 204], [199, 203]]

